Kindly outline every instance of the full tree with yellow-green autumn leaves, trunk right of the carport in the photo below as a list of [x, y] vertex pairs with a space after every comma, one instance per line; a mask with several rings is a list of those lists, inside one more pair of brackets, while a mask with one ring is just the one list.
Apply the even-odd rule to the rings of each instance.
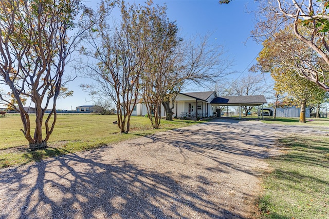
[[[302, 30], [300, 30], [302, 31]], [[300, 122], [306, 122], [305, 108], [314, 102], [323, 102], [326, 91], [300, 76], [303, 66], [314, 70], [328, 69], [317, 53], [303, 44], [290, 27], [275, 33], [263, 43], [257, 58], [262, 72], [270, 72], [278, 94], [287, 94], [286, 102], [301, 107]]]

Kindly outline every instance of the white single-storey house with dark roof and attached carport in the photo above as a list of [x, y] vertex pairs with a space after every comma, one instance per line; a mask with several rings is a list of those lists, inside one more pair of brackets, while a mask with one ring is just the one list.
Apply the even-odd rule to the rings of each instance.
[[[178, 93], [173, 112], [174, 116], [178, 118], [219, 117], [221, 115], [221, 106], [260, 107], [265, 103], [267, 102], [263, 95], [218, 97], [215, 91]], [[143, 99], [138, 99], [132, 115], [144, 116], [145, 114], [147, 114], [147, 107]], [[165, 115], [165, 109], [161, 105], [161, 116]]]

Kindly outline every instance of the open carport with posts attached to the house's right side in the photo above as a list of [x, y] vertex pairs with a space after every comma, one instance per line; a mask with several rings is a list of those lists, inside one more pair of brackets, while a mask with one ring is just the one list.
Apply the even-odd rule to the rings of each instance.
[[264, 120], [263, 110], [264, 104], [267, 101], [264, 95], [253, 95], [253, 96], [217, 96], [212, 99], [210, 104], [212, 106], [238, 106], [240, 108], [239, 119], [241, 120], [241, 108], [242, 106], [258, 106], [258, 111], [262, 110], [261, 114], [258, 114], [258, 117]]

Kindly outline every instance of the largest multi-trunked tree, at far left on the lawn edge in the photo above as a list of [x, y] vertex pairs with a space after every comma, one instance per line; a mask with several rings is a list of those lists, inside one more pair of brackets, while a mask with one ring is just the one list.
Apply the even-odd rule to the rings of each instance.
[[[47, 146], [57, 119], [57, 99], [65, 92], [71, 94], [63, 87], [63, 75], [86, 30], [84, 27], [80, 31], [75, 24], [81, 9], [79, 0], [0, 2], [0, 83], [8, 86], [15, 104], [0, 98], [20, 112], [24, 127], [21, 130], [30, 148]], [[77, 33], [68, 35], [74, 27]], [[22, 101], [25, 98], [36, 111], [32, 134], [30, 117]], [[51, 111], [44, 120], [47, 108]]]

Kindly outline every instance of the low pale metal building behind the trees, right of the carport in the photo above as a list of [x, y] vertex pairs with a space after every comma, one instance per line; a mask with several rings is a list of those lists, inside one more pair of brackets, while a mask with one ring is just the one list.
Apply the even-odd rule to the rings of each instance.
[[[274, 107], [264, 108], [264, 115], [273, 116]], [[277, 107], [277, 117], [299, 117], [300, 107]], [[310, 117], [309, 107], [306, 107], [305, 116]]]

